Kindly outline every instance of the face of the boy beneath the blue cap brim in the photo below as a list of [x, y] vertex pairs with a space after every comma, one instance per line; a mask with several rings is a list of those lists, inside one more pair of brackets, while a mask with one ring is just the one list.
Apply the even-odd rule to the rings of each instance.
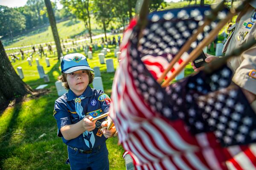
[[77, 96], [81, 95], [89, 84], [89, 76], [85, 70], [67, 74], [67, 84]]

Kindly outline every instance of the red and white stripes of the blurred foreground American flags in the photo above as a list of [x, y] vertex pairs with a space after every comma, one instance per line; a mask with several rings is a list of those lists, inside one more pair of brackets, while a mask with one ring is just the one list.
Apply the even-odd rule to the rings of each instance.
[[[150, 109], [131, 74], [127, 49], [132, 28], [128, 27], [122, 40], [122, 61], [113, 81], [110, 109], [119, 143], [126, 150], [124, 156], [131, 155], [137, 170], [255, 169], [255, 145], [222, 148], [212, 133], [193, 136], [183, 121], [171, 122]], [[151, 57], [146, 61], [154, 63]]]

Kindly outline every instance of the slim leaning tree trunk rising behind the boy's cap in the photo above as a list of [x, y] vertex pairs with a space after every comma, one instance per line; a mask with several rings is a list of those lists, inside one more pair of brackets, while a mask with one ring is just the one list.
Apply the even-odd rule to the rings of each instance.
[[62, 55], [61, 42], [60, 42], [60, 38], [58, 36], [58, 30], [57, 30], [57, 26], [56, 26], [56, 20], [54, 17], [54, 13], [52, 10], [52, 4], [51, 4], [50, 0], [44, 0], [44, 3], [47, 8], [48, 18], [49, 18], [49, 22], [50, 22], [50, 25], [52, 28], [52, 35], [54, 37], [55, 45], [57, 48], [58, 59], [60, 59], [60, 57]]

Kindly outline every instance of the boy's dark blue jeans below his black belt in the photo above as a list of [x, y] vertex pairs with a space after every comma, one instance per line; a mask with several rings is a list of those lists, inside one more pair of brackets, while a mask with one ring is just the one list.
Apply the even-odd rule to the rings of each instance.
[[106, 144], [92, 153], [79, 153], [70, 147], [67, 147], [67, 152], [71, 170], [109, 170]]

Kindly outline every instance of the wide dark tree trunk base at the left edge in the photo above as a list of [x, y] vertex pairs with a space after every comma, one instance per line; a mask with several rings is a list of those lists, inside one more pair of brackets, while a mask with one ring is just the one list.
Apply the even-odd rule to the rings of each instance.
[[30, 86], [17, 75], [10, 63], [0, 40], [0, 108], [10, 100], [26, 94], [32, 94]]

